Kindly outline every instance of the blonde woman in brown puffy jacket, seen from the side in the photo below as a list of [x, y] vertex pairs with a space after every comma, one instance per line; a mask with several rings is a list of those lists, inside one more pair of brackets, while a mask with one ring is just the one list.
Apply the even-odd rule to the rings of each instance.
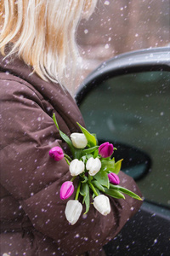
[[[77, 65], [75, 32], [92, 14], [94, 0], [4, 0], [0, 3], [1, 255], [99, 255], [140, 202], [111, 199], [104, 217], [91, 207], [77, 224], [65, 219], [59, 188], [70, 174], [52, 115], [68, 136], [84, 125], [68, 88]], [[67, 89], [65, 89], [67, 88]], [[133, 179], [123, 186], [140, 194]], [[74, 194], [71, 198], [74, 198]], [[70, 198], [70, 199], [71, 199]], [[132, 211], [132, 209], [135, 209]]]

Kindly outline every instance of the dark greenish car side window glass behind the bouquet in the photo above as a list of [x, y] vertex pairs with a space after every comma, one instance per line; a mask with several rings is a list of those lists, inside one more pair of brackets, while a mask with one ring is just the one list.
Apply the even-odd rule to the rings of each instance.
[[[145, 199], [170, 206], [170, 73], [145, 72], [117, 76], [98, 84], [80, 106], [87, 128], [100, 141], [120, 144], [127, 153], [138, 148], [151, 160], [149, 172], [138, 181]], [[121, 151], [120, 151], [121, 152]], [[135, 153], [136, 154], [136, 153]], [[144, 170], [127, 166], [133, 177]], [[125, 161], [132, 161], [132, 157]], [[147, 164], [147, 160], [146, 163]], [[142, 166], [143, 165], [143, 166]], [[139, 169], [139, 171], [138, 171]]]

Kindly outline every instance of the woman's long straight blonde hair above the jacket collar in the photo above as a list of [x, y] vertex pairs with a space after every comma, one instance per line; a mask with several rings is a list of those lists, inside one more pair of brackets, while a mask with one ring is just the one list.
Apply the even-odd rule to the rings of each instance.
[[76, 31], [94, 12], [97, 0], [1, 0], [0, 51], [13, 43], [17, 53], [43, 80], [64, 84], [77, 62]]

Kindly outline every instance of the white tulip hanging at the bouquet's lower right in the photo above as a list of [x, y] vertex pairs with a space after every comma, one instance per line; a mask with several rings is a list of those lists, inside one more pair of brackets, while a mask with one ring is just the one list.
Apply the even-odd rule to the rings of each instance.
[[111, 212], [111, 205], [110, 205], [109, 198], [105, 195], [98, 195], [94, 197], [94, 207], [102, 215], [107, 215]]

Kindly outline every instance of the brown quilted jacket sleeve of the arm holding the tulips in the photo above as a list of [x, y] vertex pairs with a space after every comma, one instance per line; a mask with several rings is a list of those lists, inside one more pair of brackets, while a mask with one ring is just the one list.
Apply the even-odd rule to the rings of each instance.
[[[44, 111], [40, 96], [26, 85], [14, 81], [7, 85], [4, 81], [1, 88], [1, 183], [20, 201], [34, 228], [57, 242], [65, 255], [97, 252], [116, 236], [141, 203], [128, 196], [126, 201], [111, 199], [108, 216], [90, 207], [77, 224], [68, 224], [66, 201], [59, 199], [59, 187], [71, 178], [68, 166], [64, 159], [55, 162], [48, 156], [50, 148], [64, 147], [53, 119]], [[63, 125], [62, 117], [55, 113]], [[122, 172], [120, 175], [123, 186], [139, 193], [131, 177]], [[70, 199], [73, 198], [74, 195]]]

